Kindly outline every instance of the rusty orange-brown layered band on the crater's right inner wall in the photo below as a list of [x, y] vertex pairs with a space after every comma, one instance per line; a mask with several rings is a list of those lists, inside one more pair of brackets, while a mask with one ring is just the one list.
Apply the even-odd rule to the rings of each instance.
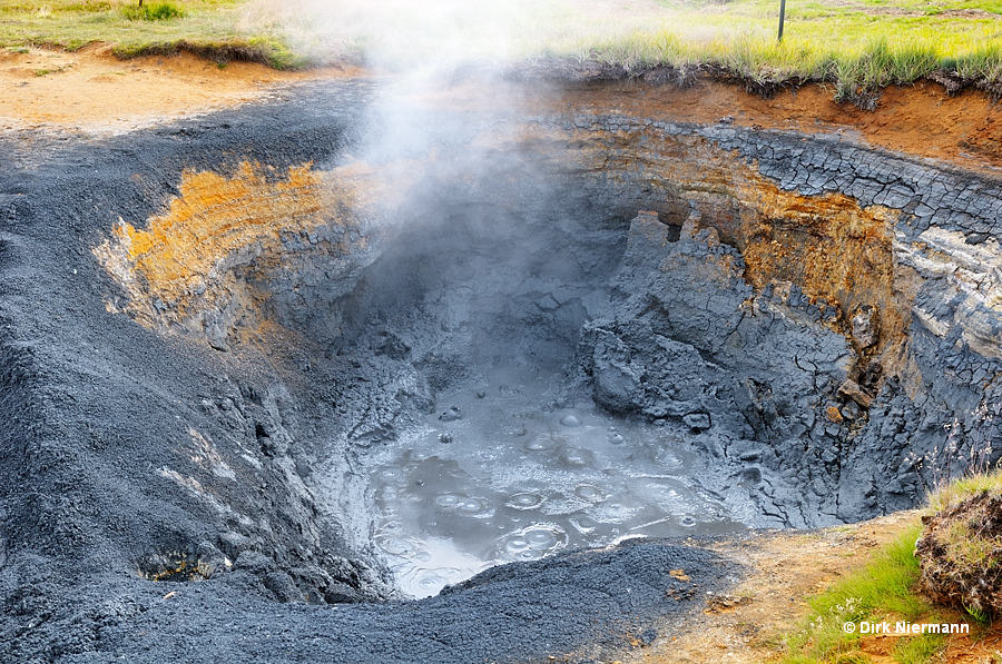
[[616, 179], [627, 192], [645, 191], [668, 224], [715, 229], [740, 254], [741, 277], [756, 293], [794, 285], [826, 325], [848, 336], [853, 317], [873, 310], [880, 334], [853, 339], [857, 349], [880, 355], [900, 345], [910, 307], [895, 287], [892, 244], [901, 210], [863, 207], [841, 192], [785, 190], [756, 163], [701, 136], [629, 125], [623, 136], [599, 127], [571, 137], [591, 158], [590, 172]]

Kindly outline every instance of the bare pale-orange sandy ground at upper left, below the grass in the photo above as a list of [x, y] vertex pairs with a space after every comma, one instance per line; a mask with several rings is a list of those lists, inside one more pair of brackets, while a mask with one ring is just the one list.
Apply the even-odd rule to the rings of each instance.
[[274, 93], [281, 83], [354, 72], [283, 72], [262, 65], [220, 67], [187, 53], [120, 60], [108, 46], [76, 52], [0, 50], [0, 129], [45, 126], [128, 131]]

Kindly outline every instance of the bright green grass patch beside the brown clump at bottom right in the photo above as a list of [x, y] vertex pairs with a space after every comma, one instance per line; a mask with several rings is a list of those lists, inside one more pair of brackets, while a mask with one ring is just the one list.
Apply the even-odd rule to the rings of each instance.
[[[786, 640], [784, 664], [868, 662], [859, 651], [858, 630], [847, 634], [846, 622], [939, 622], [932, 607], [914, 593], [918, 563], [913, 555], [921, 524], [904, 529], [878, 549], [870, 563], [825, 593], [811, 599], [811, 612]], [[900, 637], [895, 657], [902, 664], [924, 664], [945, 644], [939, 634]]]

